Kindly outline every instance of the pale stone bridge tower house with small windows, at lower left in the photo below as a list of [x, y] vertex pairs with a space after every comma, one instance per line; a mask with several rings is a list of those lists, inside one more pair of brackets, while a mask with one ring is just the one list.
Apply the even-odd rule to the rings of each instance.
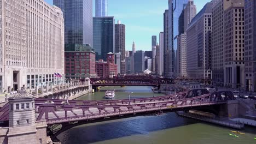
[[8, 143], [46, 143], [47, 125], [36, 124], [34, 97], [19, 91], [9, 98], [9, 106]]

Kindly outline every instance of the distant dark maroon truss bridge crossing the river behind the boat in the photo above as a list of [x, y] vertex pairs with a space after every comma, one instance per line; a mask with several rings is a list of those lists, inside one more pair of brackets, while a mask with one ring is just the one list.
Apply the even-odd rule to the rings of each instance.
[[91, 78], [92, 86], [160, 86], [174, 84], [173, 79], [152, 76], [122, 76], [113, 78]]

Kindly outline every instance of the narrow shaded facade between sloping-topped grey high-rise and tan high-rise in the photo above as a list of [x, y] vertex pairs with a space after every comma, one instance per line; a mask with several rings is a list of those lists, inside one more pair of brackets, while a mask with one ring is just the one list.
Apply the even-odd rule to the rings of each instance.
[[218, 0], [212, 10], [212, 83], [224, 86], [224, 9]]

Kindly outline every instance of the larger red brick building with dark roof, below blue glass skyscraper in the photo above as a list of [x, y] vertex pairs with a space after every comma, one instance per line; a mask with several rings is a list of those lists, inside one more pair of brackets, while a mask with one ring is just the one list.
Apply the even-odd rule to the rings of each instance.
[[89, 44], [65, 45], [65, 75], [66, 79], [96, 77], [95, 52]]

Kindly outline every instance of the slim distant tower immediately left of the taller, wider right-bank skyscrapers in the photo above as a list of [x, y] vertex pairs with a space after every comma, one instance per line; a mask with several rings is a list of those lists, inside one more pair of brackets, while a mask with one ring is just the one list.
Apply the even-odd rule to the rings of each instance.
[[159, 75], [164, 73], [164, 32], [159, 33]]

